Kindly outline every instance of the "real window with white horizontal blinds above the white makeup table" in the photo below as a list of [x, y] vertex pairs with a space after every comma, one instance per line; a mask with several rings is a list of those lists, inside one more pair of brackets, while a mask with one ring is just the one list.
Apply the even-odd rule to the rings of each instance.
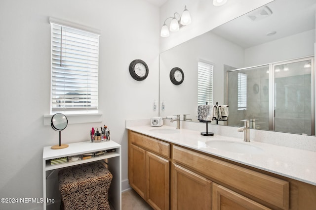
[[98, 110], [99, 35], [50, 24], [51, 113]]

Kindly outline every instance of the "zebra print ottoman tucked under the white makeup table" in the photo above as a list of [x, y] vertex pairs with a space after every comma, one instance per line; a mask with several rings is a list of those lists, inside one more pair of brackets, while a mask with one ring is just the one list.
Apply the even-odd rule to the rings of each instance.
[[113, 176], [102, 163], [63, 169], [58, 178], [62, 210], [110, 210], [108, 190]]

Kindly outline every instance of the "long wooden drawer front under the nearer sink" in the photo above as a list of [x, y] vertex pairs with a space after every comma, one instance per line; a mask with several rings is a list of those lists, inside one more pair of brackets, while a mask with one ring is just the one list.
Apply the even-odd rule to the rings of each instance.
[[289, 208], [289, 182], [177, 146], [173, 160], [278, 208]]

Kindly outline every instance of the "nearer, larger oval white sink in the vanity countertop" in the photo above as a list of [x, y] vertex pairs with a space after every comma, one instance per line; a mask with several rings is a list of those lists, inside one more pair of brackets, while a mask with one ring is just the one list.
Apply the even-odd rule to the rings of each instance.
[[247, 145], [247, 143], [229, 142], [229, 141], [208, 141], [205, 144], [215, 150], [225, 150], [243, 154], [258, 154], [263, 152], [261, 148]]

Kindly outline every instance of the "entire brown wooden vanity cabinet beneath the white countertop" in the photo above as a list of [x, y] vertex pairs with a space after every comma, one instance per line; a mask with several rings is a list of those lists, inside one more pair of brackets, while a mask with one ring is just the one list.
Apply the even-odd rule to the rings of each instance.
[[316, 206], [314, 185], [130, 130], [128, 167], [130, 186], [157, 210], [314, 210]]

